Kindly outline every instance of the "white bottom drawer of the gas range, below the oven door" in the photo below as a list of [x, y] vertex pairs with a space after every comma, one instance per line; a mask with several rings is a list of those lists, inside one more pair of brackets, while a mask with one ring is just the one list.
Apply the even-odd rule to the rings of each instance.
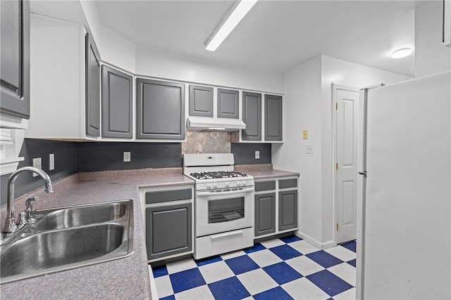
[[217, 235], [207, 235], [196, 238], [196, 249], [194, 259], [203, 259], [216, 255], [242, 249], [243, 247], [254, 246], [254, 233], [251, 228], [218, 233]]

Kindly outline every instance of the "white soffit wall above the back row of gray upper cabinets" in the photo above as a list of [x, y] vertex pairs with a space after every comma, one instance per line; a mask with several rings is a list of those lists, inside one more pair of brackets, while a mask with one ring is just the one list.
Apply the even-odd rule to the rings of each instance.
[[136, 46], [136, 74], [235, 89], [270, 93], [284, 91], [281, 72], [252, 70], [139, 45]]

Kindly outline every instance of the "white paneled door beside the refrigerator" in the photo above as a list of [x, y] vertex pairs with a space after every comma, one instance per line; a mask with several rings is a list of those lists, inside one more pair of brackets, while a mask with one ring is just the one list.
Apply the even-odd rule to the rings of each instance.
[[357, 237], [357, 125], [359, 93], [335, 89], [336, 120], [336, 230], [337, 243]]

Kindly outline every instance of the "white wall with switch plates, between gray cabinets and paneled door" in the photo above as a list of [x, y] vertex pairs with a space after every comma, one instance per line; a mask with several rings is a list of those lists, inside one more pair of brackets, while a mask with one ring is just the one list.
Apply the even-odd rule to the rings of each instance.
[[[275, 169], [299, 179], [299, 235], [319, 247], [333, 244], [333, 145], [331, 84], [362, 88], [409, 79], [373, 67], [318, 56], [285, 73], [285, 143], [273, 145]], [[302, 130], [309, 138], [302, 139]], [[313, 145], [314, 154], [305, 146]]]

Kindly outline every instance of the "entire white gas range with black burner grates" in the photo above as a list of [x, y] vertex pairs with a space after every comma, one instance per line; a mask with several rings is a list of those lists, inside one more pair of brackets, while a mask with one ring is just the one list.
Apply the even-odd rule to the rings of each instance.
[[232, 153], [183, 156], [183, 174], [195, 181], [194, 259], [254, 244], [254, 178], [234, 163]]

